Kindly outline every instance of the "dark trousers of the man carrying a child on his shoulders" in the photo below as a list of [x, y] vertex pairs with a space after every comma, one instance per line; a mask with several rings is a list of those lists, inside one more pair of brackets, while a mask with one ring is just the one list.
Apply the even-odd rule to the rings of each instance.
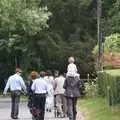
[[77, 97], [67, 97], [69, 120], [76, 120], [76, 115], [77, 115], [76, 104], [77, 104]]

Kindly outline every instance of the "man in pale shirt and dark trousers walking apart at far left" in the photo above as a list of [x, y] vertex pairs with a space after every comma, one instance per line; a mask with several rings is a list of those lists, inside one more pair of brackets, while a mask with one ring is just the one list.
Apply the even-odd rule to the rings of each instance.
[[6, 87], [3, 92], [3, 94], [6, 95], [8, 89], [10, 88], [11, 103], [12, 103], [11, 106], [12, 119], [18, 119], [20, 94], [22, 90], [26, 92], [26, 86], [23, 78], [21, 77], [21, 74], [22, 74], [22, 70], [20, 68], [16, 68], [16, 73], [8, 78]]

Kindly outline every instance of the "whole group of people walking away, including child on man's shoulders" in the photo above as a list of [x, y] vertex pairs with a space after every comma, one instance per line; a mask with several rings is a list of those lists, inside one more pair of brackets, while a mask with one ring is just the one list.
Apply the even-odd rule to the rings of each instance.
[[80, 76], [74, 64], [74, 57], [69, 57], [66, 75], [57, 72], [52, 76], [50, 71], [30, 73], [30, 81], [25, 85], [22, 70], [16, 68], [15, 74], [8, 78], [3, 94], [11, 91], [11, 118], [18, 119], [20, 94], [28, 94], [28, 107], [33, 120], [44, 120], [45, 110], [57, 111], [58, 117], [76, 120], [77, 99], [81, 93]]

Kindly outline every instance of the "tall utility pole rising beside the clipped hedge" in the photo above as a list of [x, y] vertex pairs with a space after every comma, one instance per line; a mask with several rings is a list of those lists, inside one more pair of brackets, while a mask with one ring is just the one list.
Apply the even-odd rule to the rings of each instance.
[[102, 1], [97, 0], [97, 39], [98, 39], [98, 70], [102, 70], [102, 25], [101, 25], [101, 16], [102, 16]]

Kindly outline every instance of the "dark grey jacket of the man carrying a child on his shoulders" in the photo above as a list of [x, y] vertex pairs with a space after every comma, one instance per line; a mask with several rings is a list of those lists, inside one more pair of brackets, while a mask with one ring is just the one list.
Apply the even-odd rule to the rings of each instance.
[[81, 81], [79, 77], [68, 77], [64, 83], [65, 95], [67, 97], [80, 97]]

